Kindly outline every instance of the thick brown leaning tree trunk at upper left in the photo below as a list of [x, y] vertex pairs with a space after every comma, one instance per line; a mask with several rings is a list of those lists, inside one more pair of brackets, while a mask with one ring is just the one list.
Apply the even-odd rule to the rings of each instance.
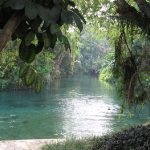
[[4, 28], [0, 31], [0, 52], [6, 46], [7, 42], [11, 39], [13, 33], [21, 22], [22, 13], [15, 12], [8, 22], [4, 25]]

